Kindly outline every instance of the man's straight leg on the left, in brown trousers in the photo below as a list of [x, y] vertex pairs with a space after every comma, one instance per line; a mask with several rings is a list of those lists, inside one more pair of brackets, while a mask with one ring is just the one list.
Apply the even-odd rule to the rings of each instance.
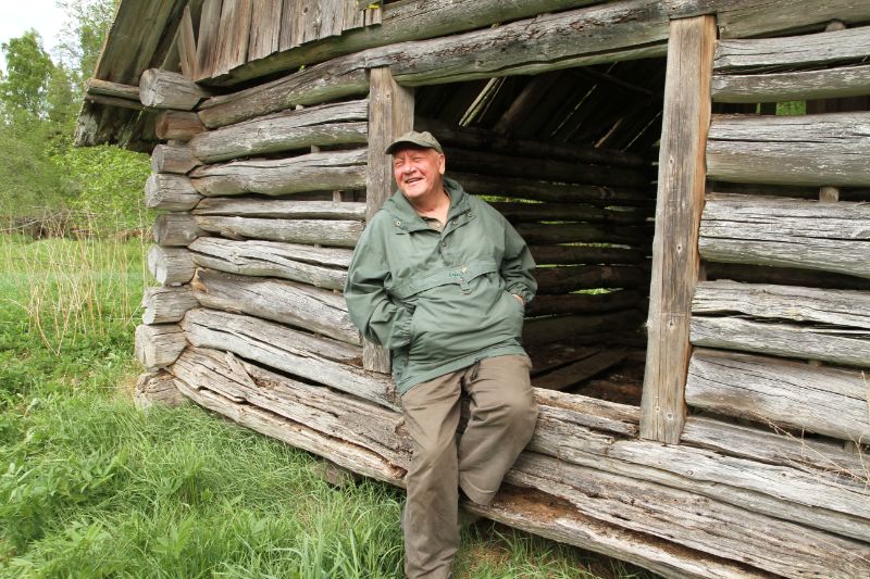
[[410, 579], [447, 578], [459, 547], [456, 429], [462, 375], [442, 376], [401, 397], [413, 439], [402, 514], [405, 572]]

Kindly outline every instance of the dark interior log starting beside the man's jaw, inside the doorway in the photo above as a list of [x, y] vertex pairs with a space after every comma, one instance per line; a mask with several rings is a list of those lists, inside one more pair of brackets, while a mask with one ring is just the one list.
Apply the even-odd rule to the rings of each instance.
[[655, 204], [655, 196], [643, 189], [567, 185], [499, 175], [456, 173], [452, 171], [448, 171], [448, 175], [462, 184], [462, 188], [465, 191], [474, 194], [557, 203], [589, 203], [598, 206], [652, 206]]

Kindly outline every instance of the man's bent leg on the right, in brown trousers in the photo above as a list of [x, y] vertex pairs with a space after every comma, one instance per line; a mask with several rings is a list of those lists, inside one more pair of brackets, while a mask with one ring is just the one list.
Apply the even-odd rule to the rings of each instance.
[[459, 444], [459, 486], [488, 505], [529, 443], [537, 419], [525, 355], [482, 360], [465, 375], [471, 417]]

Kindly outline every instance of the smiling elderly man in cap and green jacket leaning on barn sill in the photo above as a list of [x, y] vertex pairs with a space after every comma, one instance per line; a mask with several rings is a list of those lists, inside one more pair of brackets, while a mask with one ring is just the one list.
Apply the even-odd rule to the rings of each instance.
[[[413, 439], [405, 571], [440, 579], [459, 544], [459, 489], [489, 504], [534, 430], [521, 335], [535, 263], [504, 216], [444, 176], [431, 134], [410, 131], [386, 154], [399, 190], [357, 244], [345, 298], [363, 336], [393, 353]], [[457, 442], [462, 392], [471, 416]]]

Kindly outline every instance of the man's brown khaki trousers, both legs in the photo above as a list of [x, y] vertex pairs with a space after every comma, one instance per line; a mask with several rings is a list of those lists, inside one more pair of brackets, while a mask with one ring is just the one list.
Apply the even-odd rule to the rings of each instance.
[[[459, 546], [459, 488], [487, 505], [532, 438], [537, 404], [525, 355], [484, 358], [413, 387], [401, 398], [413, 439], [402, 513], [405, 572], [410, 579], [450, 575]], [[462, 391], [471, 416], [457, 444]]]

